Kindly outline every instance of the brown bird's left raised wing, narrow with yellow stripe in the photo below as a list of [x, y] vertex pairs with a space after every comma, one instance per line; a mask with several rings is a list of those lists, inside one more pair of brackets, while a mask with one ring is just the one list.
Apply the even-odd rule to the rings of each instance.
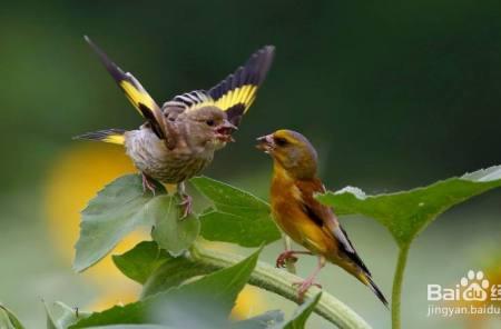
[[164, 114], [155, 100], [149, 96], [141, 83], [134, 78], [129, 72], [124, 72], [115, 62], [112, 62], [108, 56], [94, 43], [90, 38], [85, 36], [86, 41], [90, 44], [92, 50], [98, 54], [99, 59], [117, 82], [118, 87], [125, 92], [126, 97], [132, 103], [132, 106], [145, 117], [151, 124], [153, 131], [160, 139], [166, 139], [168, 136], [166, 132], [166, 124], [164, 121]]

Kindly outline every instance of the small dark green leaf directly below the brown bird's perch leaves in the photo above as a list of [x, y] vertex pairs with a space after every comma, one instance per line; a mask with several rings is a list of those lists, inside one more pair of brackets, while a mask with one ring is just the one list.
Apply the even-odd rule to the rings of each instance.
[[129, 279], [144, 285], [171, 257], [155, 241], [143, 241], [122, 255], [114, 255], [115, 266]]

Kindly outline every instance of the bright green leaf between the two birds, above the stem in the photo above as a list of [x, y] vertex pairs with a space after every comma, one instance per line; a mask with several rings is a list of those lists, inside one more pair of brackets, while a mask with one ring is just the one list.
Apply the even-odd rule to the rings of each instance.
[[195, 177], [190, 181], [214, 203], [214, 208], [199, 217], [200, 233], [207, 240], [258, 247], [281, 238], [265, 201], [207, 177]]

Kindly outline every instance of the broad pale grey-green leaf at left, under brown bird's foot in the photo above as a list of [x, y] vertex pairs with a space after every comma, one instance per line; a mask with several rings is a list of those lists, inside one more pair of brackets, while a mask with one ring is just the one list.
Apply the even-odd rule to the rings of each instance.
[[[161, 193], [165, 189], [157, 183], [156, 195]], [[99, 261], [139, 226], [151, 226], [154, 218], [146, 210], [157, 198], [143, 190], [138, 175], [120, 177], [106, 186], [82, 211], [75, 270], [82, 271]]]

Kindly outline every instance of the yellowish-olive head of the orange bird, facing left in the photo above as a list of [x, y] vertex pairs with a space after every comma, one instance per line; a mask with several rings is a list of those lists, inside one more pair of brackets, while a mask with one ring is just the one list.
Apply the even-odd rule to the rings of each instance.
[[277, 130], [257, 139], [257, 148], [273, 157], [275, 167], [297, 179], [316, 176], [315, 148], [303, 134], [293, 130]]

